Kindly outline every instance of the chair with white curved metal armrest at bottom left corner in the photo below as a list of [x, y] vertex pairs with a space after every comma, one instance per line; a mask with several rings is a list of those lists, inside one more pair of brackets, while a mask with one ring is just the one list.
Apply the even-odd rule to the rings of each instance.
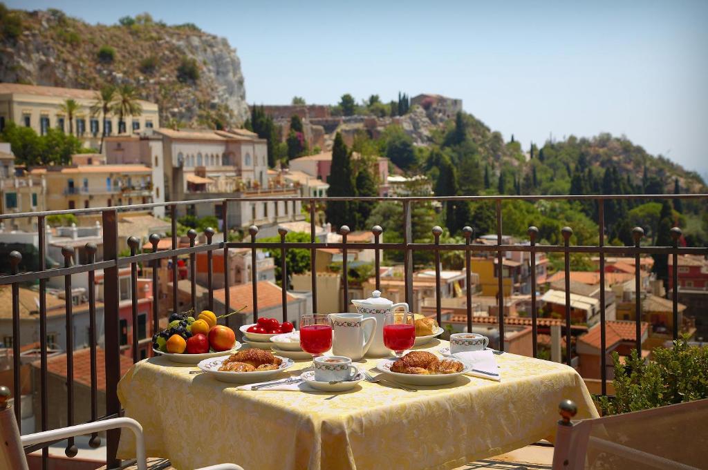
[[[145, 454], [145, 440], [142, 434], [142, 426], [132, 418], [112, 418], [93, 423], [69, 426], [68, 428], [52, 429], [42, 433], [20, 435], [15, 421], [12, 407], [7, 401], [10, 396], [10, 389], [0, 387], [0, 470], [28, 470], [27, 459], [23, 446], [41, 444], [54, 440], [68, 439], [78, 435], [100, 433], [109, 429], [127, 428], [135, 434], [135, 453], [138, 470], [147, 470], [147, 455]], [[205, 466], [197, 470], [244, 470], [236, 464], [218, 464]]]

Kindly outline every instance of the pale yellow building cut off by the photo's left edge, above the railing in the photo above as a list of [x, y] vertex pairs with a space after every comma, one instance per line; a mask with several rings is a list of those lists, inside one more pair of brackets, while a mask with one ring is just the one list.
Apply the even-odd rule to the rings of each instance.
[[[16, 174], [10, 144], [0, 142], [0, 213], [45, 211], [44, 178]], [[18, 218], [3, 223], [7, 230], [36, 230], [37, 218]]]

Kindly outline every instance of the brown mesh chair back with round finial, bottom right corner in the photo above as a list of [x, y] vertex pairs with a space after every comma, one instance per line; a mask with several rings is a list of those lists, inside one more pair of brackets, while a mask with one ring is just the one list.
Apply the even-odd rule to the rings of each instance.
[[708, 399], [571, 422], [559, 405], [553, 470], [708, 469]]

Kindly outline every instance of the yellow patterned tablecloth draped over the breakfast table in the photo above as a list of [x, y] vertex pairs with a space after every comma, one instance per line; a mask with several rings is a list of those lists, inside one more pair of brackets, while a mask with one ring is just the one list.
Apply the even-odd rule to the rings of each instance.
[[[447, 341], [427, 349], [442, 346]], [[578, 404], [576, 418], [598, 416], [572, 368], [495, 357], [501, 382], [464, 376], [418, 392], [361, 382], [333, 398], [236, 390], [190, 375], [194, 367], [150, 358], [120, 380], [118, 396], [125, 415], [142, 424], [148, 455], [180, 470], [224, 462], [246, 470], [452, 469], [554, 435], [561, 399]], [[288, 372], [299, 375], [310, 363], [297, 361]], [[132, 433], [122, 433], [118, 457], [135, 457]]]

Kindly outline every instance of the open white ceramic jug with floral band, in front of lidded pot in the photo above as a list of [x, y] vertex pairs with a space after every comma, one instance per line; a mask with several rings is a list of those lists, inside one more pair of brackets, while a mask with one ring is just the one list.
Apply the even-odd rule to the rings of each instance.
[[360, 313], [331, 313], [332, 353], [360, 360], [369, 351], [376, 334], [377, 319]]

